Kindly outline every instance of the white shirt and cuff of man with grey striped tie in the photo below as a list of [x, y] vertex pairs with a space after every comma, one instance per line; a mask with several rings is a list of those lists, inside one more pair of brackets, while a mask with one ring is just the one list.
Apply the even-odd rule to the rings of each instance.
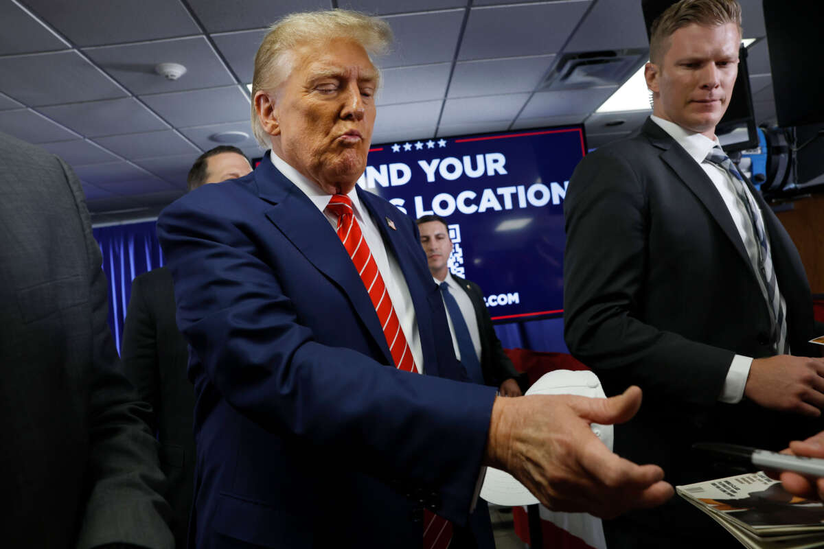
[[[749, 216], [747, 212], [742, 209], [744, 205], [737, 197], [735, 190], [737, 183], [733, 181], [733, 176], [729, 174], [727, 170], [723, 170], [719, 165], [706, 161], [707, 154], [709, 154], [709, 151], [711, 151], [713, 147], [721, 147], [718, 137], [714, 140], [710, 139], [701, 133], [691, 132], [685, 128], [681, 128], [677, 123], [658, 118], [658, 116], [653, 115], [649, 118], [652, 119], [654, 123], [657, 123], [663, 131], [667, 132], [681, 147], [684, 147], [687, 154], [700, 165], [701, 170], [704, 170], [705, 174], [707, 174], [713, 182], [723, 199], [724, 205], [727, 206], [730, 216], [733, 218], [733, 222], [735, 223], [738, 235], [741, 236], [744, 247], [747, 248], [748, 245], [751, 247], [752, 244], [758, 245]], [[747, 194], [747, 200], [749, 200], [751, 204], [757, 204], [746, 185], [744, 186], [744, 192]], [[761, 210], [757, 206], [752, 208], [752, 212], [754, 215], [761, 217]], [[761, 220], [763, 221], [763, 217], [761, 217]], [[748, 252], [749, 251], [750, 250], [748, 250]], [[748, 255], [752, 262], [754, 254], [749, 253]], [[760, 266], [753, 265], [755, 272], [758, 272], [759, 268]], [[761, 294], [764, 296], [764, 299], [767, 300], [764, 282], [761, 281], [761, 277], [756, 277], [756, 279], [758, 285], [761, 287]], [[777, 286], [776, 289], [778, 289]], [[780, 299], [783, 304], [784, 296], [780, 295]], [[747, 385], [747, 376], [750, 375], [751, 365], [752, 358], [750, 356], [733, 356], [733, 362], [729, 367], [727, 378], [724, 380], [723, 388], [719, 394], [719, 401], [730, 404], [741, 402], [744, 396], [744, 388]]]

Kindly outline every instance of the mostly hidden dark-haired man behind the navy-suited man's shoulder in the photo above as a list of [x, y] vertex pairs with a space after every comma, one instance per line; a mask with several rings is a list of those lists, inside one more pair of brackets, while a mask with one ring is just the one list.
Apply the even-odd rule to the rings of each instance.
[[[236, 179], [251, 171], [237, 147], [204, 152], [189, 172], [189, 190]], [[165, 267], [132, 282], [123, 334], [123, 365], [140, 398], [152, 405], [152, 430], [160, 441], [160, 463], [168, 479], [177, 547], [185, 547], [194, 477], [192, 410], [194, 389], [186, 376], [189, 349], [175, 321], [175, 290]]]

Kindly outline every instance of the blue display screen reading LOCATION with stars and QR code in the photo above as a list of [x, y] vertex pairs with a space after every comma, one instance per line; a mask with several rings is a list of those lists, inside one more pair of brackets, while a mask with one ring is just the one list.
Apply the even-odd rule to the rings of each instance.
[[414, 219], [447, 219], [450, 270], [499, 322], [563, 313], [564, 196], [581, 126], [376, 145], [361, 187]]

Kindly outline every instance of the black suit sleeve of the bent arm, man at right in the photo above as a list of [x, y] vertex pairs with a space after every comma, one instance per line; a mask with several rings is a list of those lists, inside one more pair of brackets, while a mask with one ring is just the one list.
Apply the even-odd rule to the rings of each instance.
[[[564, 337], [599, 375], [639, 384], [667, 402], [714, 404], [733, 351], [666, 332], [638, 318], [647, 277], [649, 212], [644, 177], [625, 157], [583, 159], [564, 198]], [[709, 306], [696, 304], [695, 306]], [[673, 311], [672, 314], [678, 314]]]

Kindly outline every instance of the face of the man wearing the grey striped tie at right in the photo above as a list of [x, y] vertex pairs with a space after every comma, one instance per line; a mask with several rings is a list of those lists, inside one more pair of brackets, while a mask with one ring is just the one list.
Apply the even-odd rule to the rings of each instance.
[[647, 63], [645, 71], [655, 100], [653, 114], [714, 138], [738, 74], [738, 27], [692, 24], [668, 40], [661, 62]]

